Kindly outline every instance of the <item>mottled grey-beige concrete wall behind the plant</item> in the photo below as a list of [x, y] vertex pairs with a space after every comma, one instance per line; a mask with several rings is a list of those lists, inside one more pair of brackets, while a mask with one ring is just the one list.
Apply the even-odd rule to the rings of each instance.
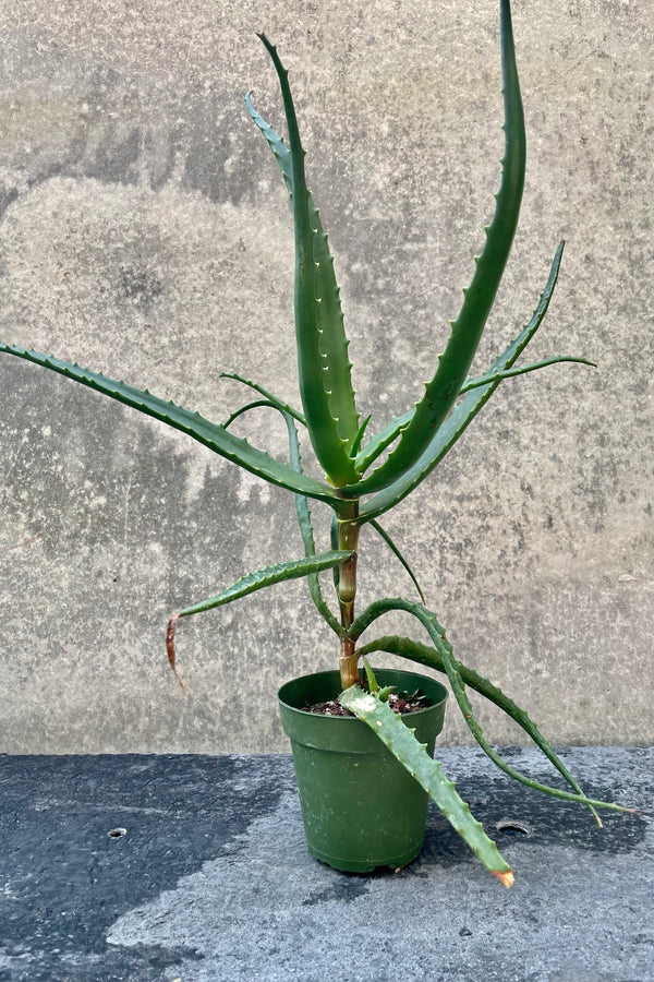
[[[282, 125], [265, 31], [291, 70], [360, 407], [383, 426], [433, 373], [492, 216], [497, 8], [1, 0], [0, 337], [215, 420], [246, 397], [226, 369], [298, 402], [289, 202], [243, 107], [253, 88]], [[475, 367], [529, 318], [565, 237], [530, 359], [598, 368], [506, 383], [386, 522], [459, 657], [561, 743], [654, 735], [652, 24], [651, 0], [516, 0], [526, 189]], [[291, 496], [43, 369], [3, 357], [0, 373], [0, 750], [286, 750], [278, 684], [337, 657], [304, 584], [182, 622], [185, 696], [164, 630], [299, 554]], [[241, 432], [286, 452], [268, 415]], [[411, 596], [372, 532], [362, 547], [362, 602]], [[450, 710], [445, 740], [467, 739]]]

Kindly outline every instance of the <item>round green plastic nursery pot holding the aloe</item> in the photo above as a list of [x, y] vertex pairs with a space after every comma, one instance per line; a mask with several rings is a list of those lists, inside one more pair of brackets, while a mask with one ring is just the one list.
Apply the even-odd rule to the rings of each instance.
[[[433, 755], [447, 691], [414, 672], [379, 669], [375, 674], [383, 686], [421, 688], [427, 695], [432, 705], [404, 721]], [[308, 850], [349, 873], [405, 866], [423, 843], [427, 794], [364, 722], [303, 710], [336, 698], [340, 691], [339, 672], [317, 672], [287, 682], [278, 693]]]

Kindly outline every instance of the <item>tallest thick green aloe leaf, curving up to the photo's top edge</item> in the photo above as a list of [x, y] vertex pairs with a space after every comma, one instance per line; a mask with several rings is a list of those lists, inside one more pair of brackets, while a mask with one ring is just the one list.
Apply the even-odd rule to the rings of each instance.
[[496, 194], [495, 215], [486, 229], [486, 243], [476, 260], [472, 283], [464, 290], [459, 316], [451, 323], [437, 371], [426, 384], [411, 421], [402, 429], [398, 445], [370, 477], [342, 489], [343, 496], [359, 498], [380, 491], [416, 464], [455, 405], [491, 313], [518, 225], [526, 158], [509, 0], [500, 0], [500, 40], [506, 142], [501, 183]]

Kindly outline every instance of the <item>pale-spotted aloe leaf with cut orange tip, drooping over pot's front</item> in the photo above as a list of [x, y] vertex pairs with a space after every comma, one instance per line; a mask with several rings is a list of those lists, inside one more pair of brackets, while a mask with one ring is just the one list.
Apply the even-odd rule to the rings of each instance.
[[358, 685], [341, 693], [339, 702], [371, 728], [411, 777], [433, 798], [486, 869], [506, 887], [510, 887], [513, 883], [511, 867], [500, 855], [493, 839], [488, 838], [482, 824], [473, 818], [468, 803], [459, 798], [455, 785], [445, 776], [440, 764], [432, 759], [426, 746], [419, 743], [413, 731], [404, 724], [408, 718], [402, 719], [376, 697], [374, 692], [365, 693]]

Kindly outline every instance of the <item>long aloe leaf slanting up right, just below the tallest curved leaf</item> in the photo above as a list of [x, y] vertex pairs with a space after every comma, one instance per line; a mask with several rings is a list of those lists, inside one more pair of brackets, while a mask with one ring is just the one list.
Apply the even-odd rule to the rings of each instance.
[[[552, 295], [558, 279], [564, 244], [564, 242], [559, 243], [552, 263], [547, 284], [529, 323], [525, 324], [520, 334], [513, 338], [502, 354], [495, 359], [487, 372], [488, 375], [497, 376], [498, 373], [509, 369], [518, 360], [543, 323], [543, 319], [547, 313], [547, 308], [549, 307], [549, 301], [552, 300]], [[452, 448], [457, 440], [468, 429], [474, 417], [485, 406], [500, 383], [501, 379], [496, 378], [496, 381], [480, 386], [459, 403], [449, 419], [446, 420], [436, 434], [432, 444], [416, 460], [413, 467], [403, 474], [402, 477], [389, 488], [385, 488], [384, 491], [375, 494], [375, 496], [361, 510], [361, 519], [363, 522], [370, 522], [371, 518], [376, 518], [384, 514], [384, 512], [392, 508], [398, 502], [413, 491], [421, 481], [424, 481], [434, 467], [436, 467], [448, 451]]]

